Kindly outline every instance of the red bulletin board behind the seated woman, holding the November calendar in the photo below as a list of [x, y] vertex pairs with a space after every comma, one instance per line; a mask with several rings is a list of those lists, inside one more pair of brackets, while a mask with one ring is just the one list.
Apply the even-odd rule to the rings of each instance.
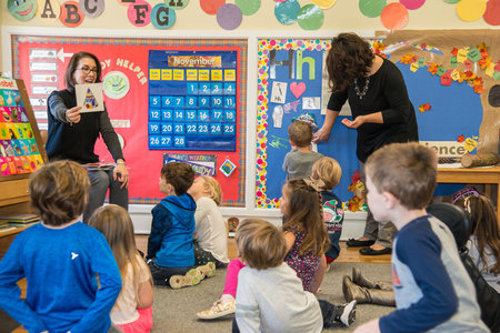
[[[223, 205], [244, 205], [247, 40], [12, 36], [11, 42], [13, 75], [24, 80], [41, 129], [47, 129], [47, 97], [53, 90], [66, 89], [63, 78], [70, 57], [79, 51], [88, 51], [99, 58], [102, 65], [104, 103], [111, 122], [122, 142], [124, 159], [129, 168], [130, 203], [157, 203], [163, 198], [158, 185], [160, 169], [164, 161], [173, 158], [198, 165], [198, 170], [201, 172], [208, 170], [214, 172], [214, 178], [223, 189]], [[152, 129], [151, 124], [161, 125], [162, 119], [152, 119], [150, 112], [150, 84], [151, 75], [154, 74], [150, 71], [152, 63], [150, 52], [210, 53], [213, 57], [222, 58], [230, 56], [230, 63], [226, 62], [223, 64], [231, 67], [234, 71], [233, 77], [226, 78], [227, 80], [223, 77], [221, 80], [209, 77], [207, 81], [203, 81], [209, 82], [213, 89], [223, 89], [224, 82], [232, 83], [230, 93], [218, 94], [213, 91], [213, 93], [207, 94], [209, 102], [212, 102], [214, 98], [220, 98], [217, 101], [223, 102], [222, 98], [230, 97], [231, 105], [227, 105], [227, 108], [222, 105], [222, 108], [217, 109], [223, 112], [217, 124], [222, 125], [222, 137], [224, 134], [228, 138], [230, 137], [230, 149], [227, 149], [227, 147], [218, 149], [217, 142], [211, 145], [210, 151], [199, 150], [197, 147], [151, 147], [151, 137], [163, 134], [167, 138], [170, 133], [161, 133], [161, 129], [159, 129], [160, 132], [158, 133], [151, 133], [151, 131], [158, 130]], [[201, 77], [198, 75], [197, 80], [188, 80], [188, 68], [178, 68], [178, 70], [182, 71], [183, 80], [169, 81], [170, 83], [174, 82], [179, 84], [178, 87], [182, 85], [186, 88], [189, 82], [201, 82]], [[166, 83], [167, 81], [161, 81], [162, 79], [164, 78], [160, 77], [160, 80], [153, 81], [156, 83]], [[203, 97], [198, 92], [191, 92], [190, 97], [196, 97], [197, 102]], [[182, 91], [180, 94], [184, 94], [184, 98], [187, 97], [186, 91]], [[159, 95], [161, 100], [161, 94]], [[179, 95], [179, 93], [172, 93], [172, 90], [169, 89], [163, 90], [162, 97], [167, 97], [167, 100], [170, 98], [170, 101], [173, 101], [172, 98], [174, 95]], [[176, 110], [186, 117], [188, 113], [192, 113], [189, 112], [190, 110], [197, 109], [199, 109], [198, 105], [192, 109], [183, 105], [183, 108], [177, 108]], [[201, 118], [198, 118], [199, 114], [196, 114], [196, 119], [191, 119], [192, 122], [183, 121], [183, 119], [164, 120], [166, 123], [171, 121], [172, 125], [176, 121], [177, 124], [182, 124], [182, 131], [179, 130], [177, 132], [178, 137], [182, 137], [187, 131], [188, 124], [212, 124], [214, 121], [213, 109], [216, 108], [208, 107], [206, 109], [208, 112], [203, 114], [209, 118], [208, 120], [203, 119], [201, 121]], [[160, 108], [159, 110], [161, 112], [162, 109]], [[164, 110], [172, 109], [164, 108]], [[224, 111], [229, 112], [226, 112], [226, 114]], [[231, 134], [223, 132], [223, 124], [230, 125]], [[198, 130], [199, 128], [197, 128], [197, 135], [199, 134]], [[212, 133], [209, 132], [207, 138], [211, 137]], [[96, 151], [102, 161], [112, 162], [112, 158], [102, 140], [98, 140]], [[228, 165], [228, 163], [233, 165], [230, 174], [219, 170], [221, 167]], [[203, 168], [207, 165], [210, 165], [210, 168]]]

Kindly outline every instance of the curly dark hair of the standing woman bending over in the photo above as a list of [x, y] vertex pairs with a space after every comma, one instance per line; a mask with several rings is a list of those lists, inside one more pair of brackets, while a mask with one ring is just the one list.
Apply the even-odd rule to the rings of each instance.
[[340, 33], [331, 41], [327, 56], [328, 84], [332, 91], [342, 91], [367, 75], [374, 54], [368, 42], [356, 33]]

